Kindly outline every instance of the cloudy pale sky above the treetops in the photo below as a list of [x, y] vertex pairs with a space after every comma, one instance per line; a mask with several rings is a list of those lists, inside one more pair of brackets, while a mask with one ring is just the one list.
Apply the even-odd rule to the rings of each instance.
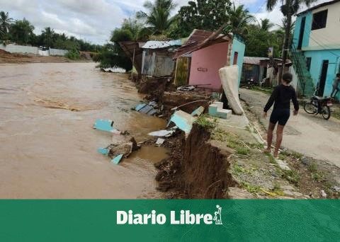
[[[40, 34], [45, 27], [57, 33], [66, 33], [86, 41], [103, 44], [108, 41], [111, 30], [118, 27], [124, 18], [143, 9], [145, 0], [0, 0], [0, 11], [11, 18], [26, 18], [35, 25], [35, 33]], [[179, 6], [187, 0], [175, 0]], [[323, 2], [327, 0], [319, 0]], [[280, 23], [279, 8], [266, 12], [266, 0], [234, 0], [244, 4], [256, 18], [269, 18]], [[314, 5], [314, 4], [313, 4]]]

